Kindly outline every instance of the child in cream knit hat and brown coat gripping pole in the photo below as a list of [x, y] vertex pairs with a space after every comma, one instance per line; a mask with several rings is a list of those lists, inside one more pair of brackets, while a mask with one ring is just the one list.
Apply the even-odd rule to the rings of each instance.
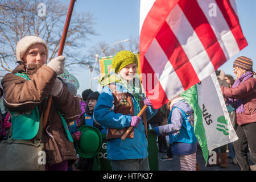
[[[12, 115], [13, 138], [32, 140], [36, 135], [37, 125], [32, 125], [32, 122], [26, 122], [32, 126], [24, 125], [17, 118], [23, 112], [30, 114], [34, 110], [42, 115], [48, 96], [52, 96], [47, 123], [42, 133], [43, 151], [46, 152], [45, 168], [67, 170], [68, 164], [77, 159], [67, 122], [74, 121], [81, 109], [79, 100], [69, 93], [67, 84], [57, 78], [57, 75], [64, 73], [65, 57], [58, 56], [46, 64], [47, 58], [48, 48], [43, 39], [38, 36], [20, 39], [16, 45], [19, 65], [2, 79], [5, 90], [3, 101]], [[28, 132], [28, 128], [31, 131]]]

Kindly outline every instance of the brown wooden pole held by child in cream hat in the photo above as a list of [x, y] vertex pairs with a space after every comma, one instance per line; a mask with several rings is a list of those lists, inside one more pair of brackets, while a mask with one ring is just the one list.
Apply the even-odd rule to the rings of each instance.
[[[76, 2], [76, 0], [71, 0], [70, 3], [69, 3], [68, 14], [67, 14], [67, 18], [66, 18], [63, 34], [62, 34], [61, 40], [60, 40], [60, 47], [59, 47], [58, 56], [61, 56], [63, 54], [65, 40], [66, 40], [67, 34], [68, 34], [68, 27], [69, 27], [69, 23], [70, 23], [70, 20], [71, 20], [71, 16], [72, 16], [73, 7], [75, 5], [75, 2]], [[49, 109], [51, 107], [51, 103], [52, 103], [52, 96], [50, 95], [49, 99], [48, 99], [46, 110], [44, 111], [43, 128], [46, 127], [47, 118], [48, 118], [48, 115], [49, 115]]]

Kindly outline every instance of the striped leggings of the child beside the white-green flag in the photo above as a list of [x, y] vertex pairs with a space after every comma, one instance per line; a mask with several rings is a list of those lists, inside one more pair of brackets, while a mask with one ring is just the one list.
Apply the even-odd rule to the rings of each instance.
[[180, 156], [181, 171], [196, 171], [196, 153]]

